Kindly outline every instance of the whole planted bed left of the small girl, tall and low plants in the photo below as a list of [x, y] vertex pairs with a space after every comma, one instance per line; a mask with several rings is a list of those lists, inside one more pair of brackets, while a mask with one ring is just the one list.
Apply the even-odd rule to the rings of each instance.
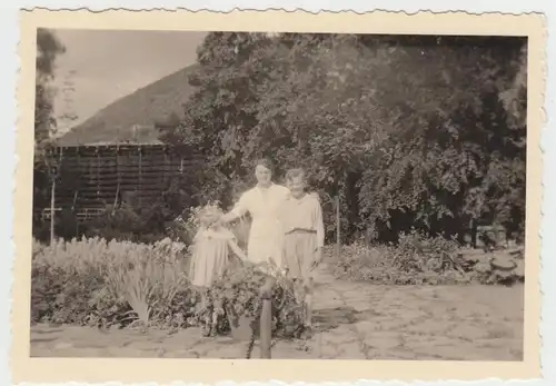
[[195, 319], [186, 246], [90, 238], [33, 245], [33, 321], [185, 326]]

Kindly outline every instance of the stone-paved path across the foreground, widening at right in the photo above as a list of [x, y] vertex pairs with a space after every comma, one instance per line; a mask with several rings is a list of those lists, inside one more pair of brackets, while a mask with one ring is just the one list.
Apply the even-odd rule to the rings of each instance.
[[[326, 267], [316, 281], [315, 336], [276, 342], [274, 358], [522, 360], [522, 286], [373, 286], [336, 280]], [[197, 328], [31, 328], [33, 357], [241, 358], [245, 349]]]

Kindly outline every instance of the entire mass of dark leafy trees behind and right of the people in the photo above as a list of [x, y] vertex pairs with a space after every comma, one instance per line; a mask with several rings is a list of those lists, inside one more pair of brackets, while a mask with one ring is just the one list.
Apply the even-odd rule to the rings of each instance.
[[524, 39], [214, 32], [190, 85], [162, 139], [203, 154], [206, 198], [229, 200], [271, 156], [278, 178], [310, 170], [329, 228], [340, 197], [344, 241], [523, 232]]

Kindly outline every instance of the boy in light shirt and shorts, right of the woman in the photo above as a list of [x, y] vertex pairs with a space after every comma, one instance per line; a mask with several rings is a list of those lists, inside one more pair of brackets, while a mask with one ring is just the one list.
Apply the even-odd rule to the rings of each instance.
[[289, 275], [302, 284], [305, 325], [311, 328], [312, 270], [320, 263], [325, 244], [322, 210], [318, 196], [307, 194], [306, 174], [291, 169], [286, 174], [290, 190], [281, 210], [284, 258]]

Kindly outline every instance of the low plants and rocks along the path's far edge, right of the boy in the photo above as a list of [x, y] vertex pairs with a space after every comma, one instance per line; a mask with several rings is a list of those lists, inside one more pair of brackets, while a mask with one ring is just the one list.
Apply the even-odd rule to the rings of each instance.
[[339, 259], [325, 250], [336, 277], [389, 285], [513, 284], [523, 281], [523, 261], [504, 251], [477, 255], [444, 237], [411, 231], [397, 245], [344, 246]]

